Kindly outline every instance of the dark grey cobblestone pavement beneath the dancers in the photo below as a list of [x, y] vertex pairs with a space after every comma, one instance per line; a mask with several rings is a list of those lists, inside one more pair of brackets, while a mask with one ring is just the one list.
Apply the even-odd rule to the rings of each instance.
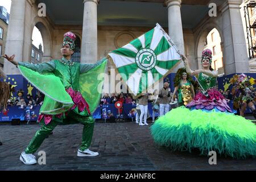
[[[46, 165], [24, 165], [19, 160], [38, 124], [0, 125], [0, 170], [256, 170], [256, 160], [236, 160], [217, 156], [217, 165], [209, 165], [208, 156], [199, 152], [172, 152], [157, 146], [148, 126], [134, 122], [96, 123], [93, 158], [78, 158], [82, 125], [57, 126], [39, 148], [46, 152]], [[37, 156], [39, 158], [39, 156]]]

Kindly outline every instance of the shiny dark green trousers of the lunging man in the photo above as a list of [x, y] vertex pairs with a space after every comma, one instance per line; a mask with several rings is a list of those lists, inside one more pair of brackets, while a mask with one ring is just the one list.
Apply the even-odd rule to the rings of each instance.
[[71, 125], [76, 123], [82, 123], [84, 125], [84, 129], [82, 130], [82, 143], [80, 146], [80, 150], [84, 151], [90, 147], [90, 143], [92, 142], [93, 129], [94, 129], [94, 119], [89, 117], [83, 117], [71, 111], [65, 119], [63, 119], [63, 123], [57, 121], [57, 119], [53, 119], [48, 125], [44, 124], [44, 120], [40, 122], [43, 126], [40, 130], [36, 131], [35, 136], [32, 138], [30, 144], [28, 144], [25, 153], [26, 154], [34, 154], [36, 150], [41, 146], [44, 139], [55, 129], [57, 125]]

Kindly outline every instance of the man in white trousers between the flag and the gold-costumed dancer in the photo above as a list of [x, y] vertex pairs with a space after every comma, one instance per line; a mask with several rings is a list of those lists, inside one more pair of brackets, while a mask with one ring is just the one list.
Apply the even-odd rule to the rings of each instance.
[[171, 96], [171, 89], [168, 82], [164, 82], [164, 87], [159, 90], [159, 111], [160, 117], [168, 113], [170, 109], [169, 97]]

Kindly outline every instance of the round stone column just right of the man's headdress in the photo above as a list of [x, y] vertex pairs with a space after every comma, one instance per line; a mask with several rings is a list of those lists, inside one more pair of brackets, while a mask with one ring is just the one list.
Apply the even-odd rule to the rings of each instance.
[[84, 0], [84, 22], [82, 24], [81, 63], [96, 63], [97, 46], [97, 5], [98, 0]]

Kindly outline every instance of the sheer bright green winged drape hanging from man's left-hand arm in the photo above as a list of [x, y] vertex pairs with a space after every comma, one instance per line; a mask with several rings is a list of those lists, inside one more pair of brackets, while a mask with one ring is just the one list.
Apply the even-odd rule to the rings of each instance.
[[[43, 63], [36, 66], [27, 63], [22, 64], [25, 65], [19, 64], [19, 70], [22, 76], [46, 96], [44, 98], [44, 104], [40, 109], [41, 114], [60, 114], [68, 111], [73, 106], [72, 98], [65, 91], [60, 78], [50, 72], [52, 70], [49, 67], [50, 64]], [[27, 68], [27, 66], [30, 68]]]

